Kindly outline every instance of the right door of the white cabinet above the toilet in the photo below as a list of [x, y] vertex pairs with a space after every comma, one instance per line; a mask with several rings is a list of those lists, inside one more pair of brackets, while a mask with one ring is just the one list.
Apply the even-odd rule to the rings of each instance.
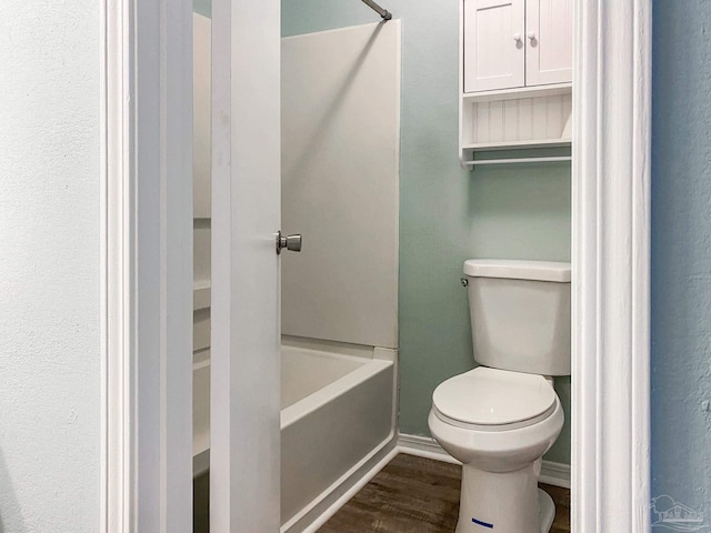
[[525, 84], [564, 83], [573, 77], [573, 0], [527, 0]]

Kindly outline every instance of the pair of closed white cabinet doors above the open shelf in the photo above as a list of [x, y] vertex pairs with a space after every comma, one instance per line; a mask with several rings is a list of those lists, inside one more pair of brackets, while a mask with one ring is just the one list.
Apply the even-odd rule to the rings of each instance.
[[572, 80], [572, 0], [463, 0], [464, 92]]

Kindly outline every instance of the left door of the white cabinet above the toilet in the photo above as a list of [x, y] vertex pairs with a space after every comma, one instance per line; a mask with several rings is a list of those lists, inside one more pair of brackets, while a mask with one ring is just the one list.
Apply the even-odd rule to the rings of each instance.
[[463, 0], [464, 92], [523, 87], [524, 0]]

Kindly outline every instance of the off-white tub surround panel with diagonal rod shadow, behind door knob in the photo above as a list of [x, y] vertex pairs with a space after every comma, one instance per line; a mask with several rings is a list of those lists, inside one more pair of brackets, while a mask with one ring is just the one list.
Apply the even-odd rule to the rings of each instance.
[[281, 228], [304, 239], [281, 260], [282, 334], [397, 349], [400, 22], [281, 54]]

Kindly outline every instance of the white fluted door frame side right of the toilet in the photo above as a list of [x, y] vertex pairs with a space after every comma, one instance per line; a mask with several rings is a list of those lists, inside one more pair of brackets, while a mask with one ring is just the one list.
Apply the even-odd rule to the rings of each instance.
[[575, 0], [575, 533], [651, 529], [651, 0]]

